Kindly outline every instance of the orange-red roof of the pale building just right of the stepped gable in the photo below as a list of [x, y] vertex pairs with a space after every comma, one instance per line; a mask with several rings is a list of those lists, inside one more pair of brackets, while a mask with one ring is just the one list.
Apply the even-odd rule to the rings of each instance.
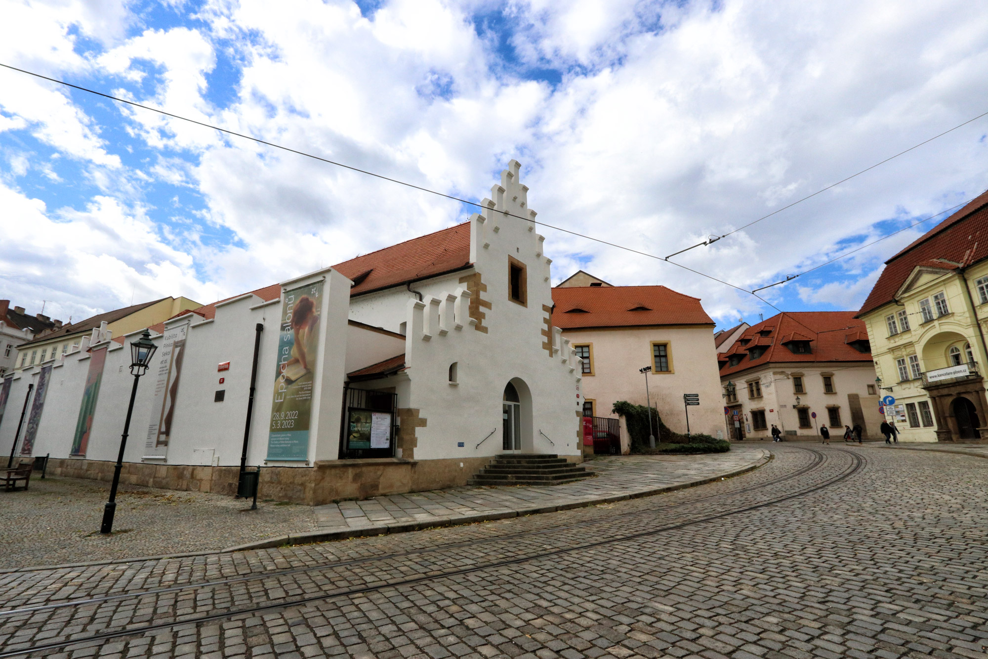
[[[553, 288], [552, 302], [552, 325], [561, 329], [713, 325], [700, 298], [665, 286]], [[647, 311], [631, 311], [638, 307]]]

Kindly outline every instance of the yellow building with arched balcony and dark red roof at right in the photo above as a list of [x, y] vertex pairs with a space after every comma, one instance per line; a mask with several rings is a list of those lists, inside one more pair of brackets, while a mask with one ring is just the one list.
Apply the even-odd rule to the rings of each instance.
[[900, 440], [988, 440], [988, 192], [885, 261], [857, 317]]

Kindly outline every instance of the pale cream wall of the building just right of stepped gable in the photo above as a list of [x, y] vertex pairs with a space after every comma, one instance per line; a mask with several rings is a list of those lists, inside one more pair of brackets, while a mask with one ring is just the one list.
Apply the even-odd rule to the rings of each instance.
[[583, 376], [583, 395], [594, 401], [594, 415], [617, 417], [617, 401], [645, 405], [645, 376], [639, 368], [652, 363], [652, 341], [668, 341], [672, 373], [651, 373], [648, 391], [664, 424], [686, 432], [683, 394], [700, 394], [690, 408], [690, 430], [717, 436], [723, 433], [717, 353], [712, 326], [566, 329], [572, 345], [590, 344], [594, 374]]

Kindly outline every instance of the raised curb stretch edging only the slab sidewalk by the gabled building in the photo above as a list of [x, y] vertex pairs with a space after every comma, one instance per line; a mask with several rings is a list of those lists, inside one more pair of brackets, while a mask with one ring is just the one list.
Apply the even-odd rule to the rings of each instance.
[[629, 499], [641, 499], [642, 497], [650, 497], [652, 495], [661, 494], [663, 492], [675, 492], [676, 490], [685, 490], [687, 488], [694, 488], [700, 485], [706, 485], [707, 483], [712, 483], [714, 481], [719, 481], [724, 478], [730, 478], [732, 476], [740, 476], [741, 474], [748, 473], [749, 471], [754, 471], [759, 467], [763, 466], [769, 460], [772, 459], [771, 451], [763, 448], [762, 457], [756, 459], [752, 463], [734, 469], [732, 471], [725, 471], [720, 474], [715, 474], [713, 476], [708, 476], [706, 478], [700, 478], [695, 481], [687, 481], [685, 483], [677, 483], [675, 485], [666, 485], [660, 488], [651, 488], [648, 490], [638, 490], [636, 492], [630, 492], [628, 494], [613, 495], [610, 497], [595, 497], [593, 499], [583, 499], [573, 502], [566, 502], [565, 504], [560, 504], [557, 506], [538, 506], [534, 508], [523, 508], [517, 511], [505, 510], [505, 511], [491, 511], [489, 513], [478, 513], [475, 515], [461, 515], [448, 518], [435, 518], [435, 519], [423, 519], [421, 521], [399, 521], [392, 524], [380, 524], [380, 525], [368, 525], [368, 526], [354, 526], [351, 528], [344, 528], [340, 530], [333, 531], [310, 531], [308, 533], [289, 533], [288, 535], [282, 535], [276, 538], [271, 538], [268, 540], [260, 540], [256, 542], [247, 542], [245, 544], [238, 544], [234, 547], [227, 547], [222, 549], [221, 552], [233, 552], [233, 551], [247, 551], [250, 549], [273, 549], [276, 547], [282, 547], [286, 545], [295, 544], [311, 544], [314, 542], [330, 542], [333, 540], [347, 540], [354, 537], [371, 537], [375, 535], [388, 535], [391, 533], [403, 533], [406, 531], [414, 530], [424, 530], [426, 528], [442, 528], [445, 526], [458, 526], [462, 524], [471, 524], [479, 521], [493, 521], [495, 519], [506, 519], [506, 518], [521, 518], [527, 517], [529, 515], [540, 515], [542, 513], [555, 513], [557, 511], [569, 511], [576, 508], [589, 508], [590, 506], [600, 506], [601, 504], [614, 504], [619, 501], [627, 501]]

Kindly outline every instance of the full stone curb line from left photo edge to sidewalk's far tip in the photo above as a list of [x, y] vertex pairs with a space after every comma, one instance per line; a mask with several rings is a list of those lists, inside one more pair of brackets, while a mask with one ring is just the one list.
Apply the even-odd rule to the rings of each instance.
[[479, 513], [476, 515], [462, 515], [462, 516], [456, 516], [450, 518], [423, 519], [422, 521], [398, 521], [392, 524], [383, 524], [380, 526], [358, 526], [358, 527], [346, 528], [337, 531], [311, 531], [308, 533], [291, 533], [288, 535], [280, 535], [278, 537], [271, 538], [268, 540], [258, 540], [255, 542], [240, 544], [234, 547], [226, 547], [225, 549], [206, 549], [204, 551], [176, 552], [169, 554], [159, 554], [156, 556], [134, 556], [130, 558], [115, 558], [115, 559], [103, 560], [103, 561], [63, 563], [60, 565], [33, 565], [30, 567], [3, 568], [0, 569], [0, 574], [11, 574], [15, 572], [37, 572], [41, 570], [59, 570], [65, 568], [95, 567], [99, 565], [119, 565], [122, 563], [138, 563], [141, 561], [163, 560], [166, 558], [190, 558], [195, 556], [209, 556], [213, 554], [223, 554], [234, 551], [247, 551], [250, 549], [271, 549], [271, 548], [282, 547], [291, 544], [310, 544], [314, 542], [328, 542], [331, 540], [347, 540], [354, 537], [371, 537], [374, 535], [386, 535], [389, 533], [404, 533], [408, 531], [425, 530], [427, 528], [442, 528], [444, 526], [471, 524], [480, 521], [494, 521], [495, 519], [520, 518], [529, 515], [539, 515], [542, 513], [569, 511], [575, 508], [588, 508], [590, 506], [599, 506], [601, 504], [613, 504], [619, 501], [627, 501], [629, 499], [640, 499], [642, 497], [650, 497], [652, 495], [661, 494], [663, 492], [675, 492], [676, 490], [693, 488], [700, 485], [706, 485], [707, 483], [712, 483], [714, 481], [719, 481], [723, 478], [731, 478], [733, 476], [740, 476], [741, 474], [746, 474], [749, 471], [754, 471], [755, 469], [758, 469], [759, 467], [767, 464], [770, 460], [772, 460], [773, 454], [770, 450], [763, 448], [761, 449], [761, 451], [762, 451], [762, 457], [757, 458], [750, 464], [732, 471], [725, 471], [720, 474], [715, 474], [707, 478], [700, 478], [695, 481], [687, 481], [685, 483], [677, 483], [675, 485], [666, 485], [661, 488], [639, 490], [637, 492], [631, 492], [629, 494], [624, 494], [624, 495], [615, 495], [611, 497], [598, 497], [594, 499], [567, 502], [565, 504], [560, 504], [558, 506], [541, 506], [535, 508], [521, 509], [518, 511], [513, 511], [513, 510], [490, 511], [488, 513]]

